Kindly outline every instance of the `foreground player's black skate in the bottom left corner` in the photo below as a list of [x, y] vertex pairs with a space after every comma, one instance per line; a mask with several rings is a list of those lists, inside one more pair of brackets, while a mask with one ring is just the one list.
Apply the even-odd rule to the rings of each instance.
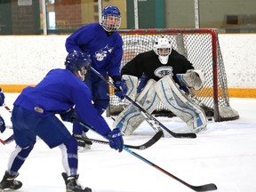
[[4, 191], [4, 189], [19, 189], [22, 186], [22, 183], [19, 180], [14, 180], [18, 177], [19, 173], [16, 175], [10, 175], [8, 172], [5, 172], [3, 180], [0, 182], [0, 190]]

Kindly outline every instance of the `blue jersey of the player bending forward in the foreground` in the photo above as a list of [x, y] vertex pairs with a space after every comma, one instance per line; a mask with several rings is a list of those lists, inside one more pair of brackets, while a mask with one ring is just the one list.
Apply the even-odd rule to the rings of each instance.
[[[52, 69], [36, 87], [28, 86], [14, 105], [26, 108], [37, 116], [63, 114], [75, 106], [77, 118], [92, 125], [103, 135], [110, 132], [107, 122], [92, 106], [91, 91], [68, 69]], [[42, 108], [42, 111], [36, 110]]]

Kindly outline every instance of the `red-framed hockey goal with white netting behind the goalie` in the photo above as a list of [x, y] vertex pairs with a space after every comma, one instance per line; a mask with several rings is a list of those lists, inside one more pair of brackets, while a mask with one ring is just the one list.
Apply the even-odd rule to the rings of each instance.
[[[239, 118], [235, 109], [230, 107], [228, 82], [225, 66], [220, 52], [218, 30], [214, 28], [198, 29], [138, 29], [119, 32], [124, 41], [124, 55], [121, 68], [140, 52], [152, 50], [153, 42], [159, 36], [167, 37], [172, 49], [184, 55], [194, 68], [204, 72], [204, 87], [196, 92], [192, 100], [204, 109], [206, 116], [213, 116], [216, 122]], [[107, 116], [116, 116], [127, 101], [119, 100], [113, 88], [110, 89], [110, 103]], [[163, 102], [154, 111], [155, 115], [169, 116], [172, 114]]]

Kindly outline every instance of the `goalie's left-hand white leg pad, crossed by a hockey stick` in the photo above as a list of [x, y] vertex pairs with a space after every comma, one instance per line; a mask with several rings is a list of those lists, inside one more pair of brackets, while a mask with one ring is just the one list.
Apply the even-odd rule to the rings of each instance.
[[[158, 98], [154, 84], [155, 80], [150, 79], [146, 84], [145, 88], [140, 95], [137, 97], [136, 101], [140, 103], [141, 107], [151, 114], [160, 99]], [[113, 127], [117, 127], [121, 130], [123, 135], [131, 135], [139, 125], [144, 121], [144, 116], [134, 107], [132, 104], [126, 108], [116, 117]]]

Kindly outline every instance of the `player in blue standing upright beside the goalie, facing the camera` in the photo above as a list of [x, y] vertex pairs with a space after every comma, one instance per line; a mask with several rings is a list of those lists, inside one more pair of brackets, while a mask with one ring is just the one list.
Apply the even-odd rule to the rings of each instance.
[[[107, 6], [102, 12], [101, 23], [91, 23], [79, 28], [66, 40], [68, 52], [89, 52], [92, 56], [92, 68], [102, 76], [111, 76], [116, 87], [123, 83], [120, 76], [120, 65], [123, 55], [123, 40], [116, 32], [121, 25], [121, 14], [116, 6]], [[108, 84], [92, 72], [86, 76], [85, 84], [92, 91], [92, 101], [98, 114], [102, 114], [109, 104]], [[122, 92], [116, 90], [116, 95], [121, 97]], [[84, 130], [84, 132], [82, 132]], [[79, 124], [74, 124], [73, 132], [76, 137], [86, 138], [88, 130]], [[92, 144], [92, 143], [87, 143]], [[90, 148], [86, 145], [86, 148]], [[83, 149], [82, 149], [83, 150]]]

